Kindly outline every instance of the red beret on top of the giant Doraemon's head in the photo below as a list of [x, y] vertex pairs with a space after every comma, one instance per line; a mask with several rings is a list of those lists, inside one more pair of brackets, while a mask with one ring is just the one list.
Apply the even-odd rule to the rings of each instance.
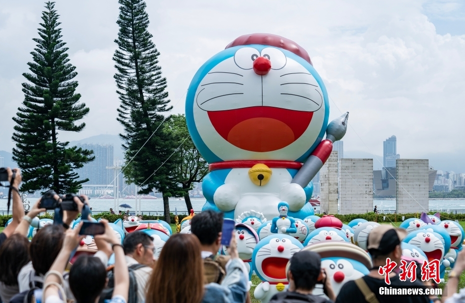
[[224, 49], [238, 45], [250, 44], [269, 45], [288, 50], [290, 52], [293, 52], [297, 56], [303, 58], [305, 61], [307, 61], [313, 66], [313, 63], [311, 63], [310, 60], [310, 56], [308, 55], [306, 50], [303, 49], [302, 46], [298, 45], [292, 40], [278, 35], [273, 35], [271, 33], [251, 33], [241, 35], [240, 37], [235, 38], [234, 41], [232, 41], [231, 43], [227, 44], [227, 46]]

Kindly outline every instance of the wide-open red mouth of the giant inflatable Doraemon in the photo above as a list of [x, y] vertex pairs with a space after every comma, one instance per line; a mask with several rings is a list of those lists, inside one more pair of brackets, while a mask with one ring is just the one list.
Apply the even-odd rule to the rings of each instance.
[[269, 106], [208, 111], [210, 122], [227, 142], [253, 152], [269, 152], [297, 140], [313, 112]]

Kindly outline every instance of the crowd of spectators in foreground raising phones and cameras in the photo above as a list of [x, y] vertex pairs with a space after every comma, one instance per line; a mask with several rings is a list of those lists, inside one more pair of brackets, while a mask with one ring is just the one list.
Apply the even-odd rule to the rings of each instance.
[[[12, 171], [8, 168], [8, 179]], [[70, 229], [71, 221], [82, 213], [83, 202], [75, 197], [77, 211], [64, 211], [63, 223], [47, 225], [37, 231], [31, 241], [25, 236], [32, 220], [45, 209], [40, 199], [25, 214], [18, 192], [21, 174], [16, 169], [11, 182], [12, 221], [0, 234], [0, 297], [3, 303], [244, 303], [251, 302], [251, 283], [244, 263], [239, 259], [236, 240], [232, 237], [228, 256], [219, 255], [223, 216], [204, 211], [191, 221], [191, 234], [174, 234], [165, 243], [155, 260], [149, 235], [129, 233], [121, 245], [106, 220], [101, 220], [104, 233], [95, 235], [97, 253], [80, 255], [70, 260], [84, 236], [82, 227]], [[58, 196], [55, 199], [59, 199]], [[90, 218], [86, 218], [90, 219]], [[465, 290], [456, 293], [460, 274], [465, 270], [465, 250], [458, 254], [449, 274], [442, 298], [417, 295], [389, 297], [380, 295], [385, 287], [384, 275], [378, 272], [386, 258], [400, 264], [400, 242], [404, 232], [390, 225], [374, 229], [368, 237], [368, 253], [373, 262], [369, 274], [347, 282], [336, 296], [321, 257], [311, 251], [300, 251], [290, 259], [286, 291], [271, 303], [459, 303], [465, 302]], [[114, 256], [114, 257], [112, 257]], [[114, 265], [108, 267], [109, 258]], [[389, 274], [391, 287], [428, 285], [417, 280], [401, 281], [398, 274]], [[321, 284], [325, 297], [313, 295]], [[435, 286], [437, 287], [437, 286]]]

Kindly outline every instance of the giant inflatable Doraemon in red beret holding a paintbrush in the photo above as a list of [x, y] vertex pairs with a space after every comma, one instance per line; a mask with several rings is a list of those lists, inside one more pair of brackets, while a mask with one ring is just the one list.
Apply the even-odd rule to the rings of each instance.
[[273, 34], [238, 37], [196, 72], [185, 113], [210, 163], [202, 210], [273, 218], [285, 201], [289, 216], [313, 215], [310, 181], [345, 134], [348, 113], [328, 125], [326, 88], [301, 46]]

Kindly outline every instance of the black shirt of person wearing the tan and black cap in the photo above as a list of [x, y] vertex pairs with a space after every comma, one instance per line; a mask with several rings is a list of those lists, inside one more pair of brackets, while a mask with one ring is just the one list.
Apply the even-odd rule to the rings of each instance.
[[[429, 298], [426, 295], [418, 295], [416, 297], [400, 297], [400, 296], [386, 296], [379, 295], [380, 287], [394, 287], [394, 286], [423, 286], [423, 283], [418, 279], [415, 282], [400, 281], [399, 276], [396, 275], [393, 278], [390, 278], [390, 285], [387, 285], [384, 282], [384, 279], [376, 279], [368, 276], [364, 276], [363, 280], [365, 281], [368, 288], [374, 293], [376, 299], [379, 303], [429, 303]], [[360, 292], [354, 281], [349, 281], [342, 286], [339, 294], [337, 295], [335, 303], [364, 303], [365, 296]]]

